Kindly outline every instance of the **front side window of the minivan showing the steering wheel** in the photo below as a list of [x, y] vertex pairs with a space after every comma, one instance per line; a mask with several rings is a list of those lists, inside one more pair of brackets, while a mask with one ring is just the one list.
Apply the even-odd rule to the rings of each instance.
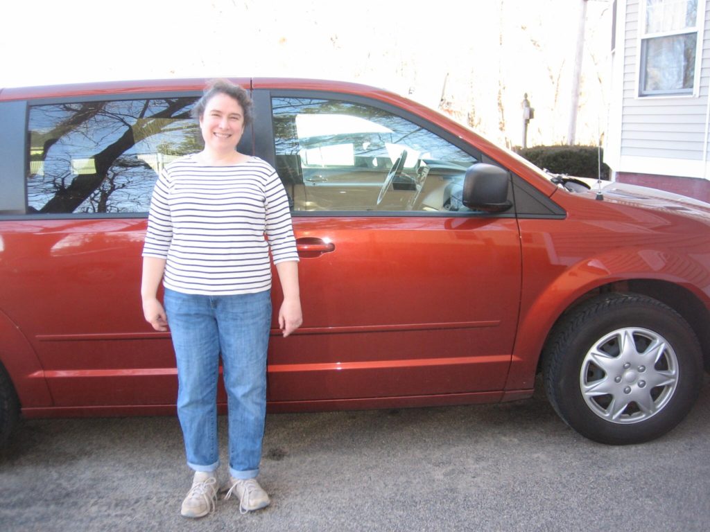
[[349, 101], [273, 98], [276, 170], [294, 211], [469, 211], [476, 157], [411, 121]]

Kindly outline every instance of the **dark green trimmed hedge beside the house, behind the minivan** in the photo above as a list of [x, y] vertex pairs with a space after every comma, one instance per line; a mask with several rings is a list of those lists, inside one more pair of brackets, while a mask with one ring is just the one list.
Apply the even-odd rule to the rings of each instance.
[[[596, 179], [599, 173], [599, 149], [596, 146], [535, 146], [518, 148], [518, 155], [555, 174]], [[603, 155], [603, 153], [601, 154]], [[601, 179], [609, 178], [609, 167], [601, 163]]]

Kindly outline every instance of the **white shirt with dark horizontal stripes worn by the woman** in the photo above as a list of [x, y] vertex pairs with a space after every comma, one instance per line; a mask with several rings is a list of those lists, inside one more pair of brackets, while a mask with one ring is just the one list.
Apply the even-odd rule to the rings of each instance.
[[187, 155], [160, 173], [143, 257], [165, 259], [166, 288], [207, 295], [268, 290], [270, 249], [274, 264], [298, 260], [288, 197], [267, 162], [251, 157], [214, 167]]

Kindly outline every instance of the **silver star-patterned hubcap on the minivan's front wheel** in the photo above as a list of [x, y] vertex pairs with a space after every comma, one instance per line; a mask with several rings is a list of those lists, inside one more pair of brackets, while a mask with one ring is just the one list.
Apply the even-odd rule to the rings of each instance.
[[623, 328], [599, 339], [579, 374], [591, 411], [612, 423], [638, 423], [660, 412], [678, 384], [678, 359], [665, 338]]

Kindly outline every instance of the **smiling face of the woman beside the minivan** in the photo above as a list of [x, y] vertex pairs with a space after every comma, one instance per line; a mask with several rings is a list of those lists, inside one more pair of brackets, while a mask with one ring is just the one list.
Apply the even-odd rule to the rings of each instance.
[[244, 109], [228, 94], [215, 94], [200, 117], [204, 148], [220, 153], [234, 151], [244, 133]]

